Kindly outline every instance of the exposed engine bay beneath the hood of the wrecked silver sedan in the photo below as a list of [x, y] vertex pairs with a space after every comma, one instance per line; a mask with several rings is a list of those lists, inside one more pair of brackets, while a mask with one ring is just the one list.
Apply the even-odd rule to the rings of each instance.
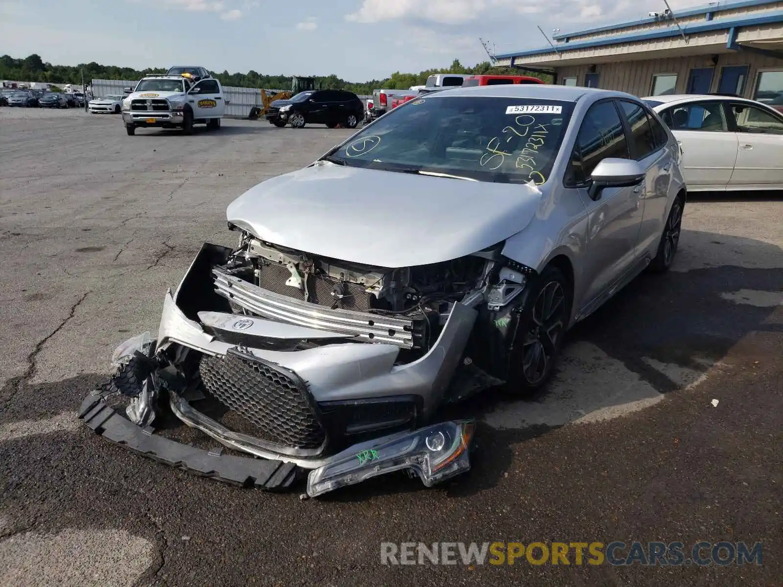
[[[246, 297], [235, 294], [235, 287], [222, 286], [222, 277], [242, 279], [330, 310], [376, 315], [377, 320], [367, 320], [366, 329], [354, 328], [359, 333], [356, 340], [395, 344], [410, 351], [403, 359], [414, 360], [437, 340], [451, 304], [482, 289], [489, 256], [477, 254], [412, 268], [370, 267], [288, 250], [244, 233], [229, 262], [216, 269], [217, 291], [229, 300], [234, 313], [266, 319], [286, 317], [276, 308], [247, 303]], [[305, 322], [303, 326], [323, 326], [317, 320]], [[380, 332], [375, 328], [384, 324], [389, 327]]]

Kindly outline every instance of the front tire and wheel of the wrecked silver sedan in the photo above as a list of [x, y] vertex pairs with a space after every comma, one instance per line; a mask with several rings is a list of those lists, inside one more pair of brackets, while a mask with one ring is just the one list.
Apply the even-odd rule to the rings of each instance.
[[511, 349], [506, 391], [525, 395], [547, 383], [560, 356], [571, 312], [571, 285], [550, 265], [532, 284]]

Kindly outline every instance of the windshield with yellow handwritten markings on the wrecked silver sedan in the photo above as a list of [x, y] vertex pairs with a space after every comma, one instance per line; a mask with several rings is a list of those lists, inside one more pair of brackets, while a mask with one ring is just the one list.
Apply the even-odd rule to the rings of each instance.
[[428, 96], [384, 114], [329, 158], [351, 167], [541, 185], [573, 106], [559, 100]]

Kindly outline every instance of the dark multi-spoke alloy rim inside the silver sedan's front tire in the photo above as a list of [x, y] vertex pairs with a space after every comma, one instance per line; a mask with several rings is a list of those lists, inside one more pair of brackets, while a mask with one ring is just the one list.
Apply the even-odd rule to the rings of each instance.
[[565, 328], [565, 291], [550, 281], [539, 291], [532, 308], [525, 342], [522, 344], [522, 373], [530, 385], [547, 376], [557, 354], [557, 344]]

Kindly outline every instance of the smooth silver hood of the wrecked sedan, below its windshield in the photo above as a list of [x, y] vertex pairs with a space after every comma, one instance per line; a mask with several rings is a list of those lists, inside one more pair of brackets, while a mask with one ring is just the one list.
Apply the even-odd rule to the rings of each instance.
[[247, 190], [226, 217], [283, 247], [396, 268], [491, 247], [525, 229], [543, 197], [523, 184], [319, 163]]

